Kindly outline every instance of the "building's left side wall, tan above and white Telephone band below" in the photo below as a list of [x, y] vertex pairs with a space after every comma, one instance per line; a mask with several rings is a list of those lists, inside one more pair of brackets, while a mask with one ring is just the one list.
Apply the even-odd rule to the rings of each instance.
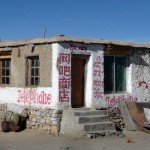
[[[11, 47], [11, 51], [11, 84], [0, 87], [0, 103], [58, 108], [57, 46], [30, 44]], [[26, 58], [30, 56], [39, 56], [40, 59], [40, 85], [38, 87], [25, 84], [27, 79]]]

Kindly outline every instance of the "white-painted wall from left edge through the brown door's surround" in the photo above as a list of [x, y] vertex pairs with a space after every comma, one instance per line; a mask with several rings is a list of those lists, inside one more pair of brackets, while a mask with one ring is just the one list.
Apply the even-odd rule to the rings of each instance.
[[[38, 87], [38, 88], [17, 88], [17, 87], [5, 87], [0, 88], [0, 103], [16, 103], [25, 106], [35, 106], [41, 108], [68, 108], [71, 107], [71, 54], [88, 55], [86, 70], [86, 82], [85, 82], [85, 107], [102, 107], [105, 105], [105, 101], [102, 97], [103, 88], [100, 89], [102, 97], [95, 97], [93, 82], [94, 80], [100, 80], [103, 82], [103, 74], [101, 77], [95, 77], [93, 75], [94, 63], [98, 57], [101, 57], [103, 63], [103, 49], [101, 45], [80, 44], [80, 43], [54, 43], [52, 44], [52, 87]], [[66, 58], [61, 58], [61, 55], [68, 55], [70, 63], [65, 62]], [[63, 60], [64, 59], [64, 60]], [[70, 77], [70, 83], [68, 88], [60, 88], [60, 81], [64, 78], [60, 74], [59, 69], [61, 67], [70, 67], [70, 72], [67, 72]], [[101, 68], [103, 71], [103, 66]], [[67, 91], [62, 96], [63, 91]], [[98, 89], [96, 89], [98, 90]], [[66, 101], [65, 99], [66, 98]], [[62, 100], [62, 101], [61, 101]]]

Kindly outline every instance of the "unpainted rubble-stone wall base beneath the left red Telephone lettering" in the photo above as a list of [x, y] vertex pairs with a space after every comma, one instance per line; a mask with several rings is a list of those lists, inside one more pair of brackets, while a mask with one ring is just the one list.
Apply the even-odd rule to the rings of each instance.
[[[3, 121], [4, 113], [7, 111], [6, 104], [0, 104], [0, 122]], [[41, 109], [28, 107], [27, 128], [46, 131], [52, 135], [59, 135], [62, 110]]]

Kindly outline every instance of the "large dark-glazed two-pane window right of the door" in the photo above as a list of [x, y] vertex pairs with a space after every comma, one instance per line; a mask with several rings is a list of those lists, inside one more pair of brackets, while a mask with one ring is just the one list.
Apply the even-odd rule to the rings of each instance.
[[104, 92], [126, 91], [126, 57], [104, 56]]

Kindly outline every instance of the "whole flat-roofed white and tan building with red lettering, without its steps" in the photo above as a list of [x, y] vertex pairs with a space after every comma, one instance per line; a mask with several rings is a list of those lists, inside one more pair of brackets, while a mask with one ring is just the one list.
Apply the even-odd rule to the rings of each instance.
[[1, 111], [30, 109], [30, 128], [58, 133], [64, 109], [150, 100], [150, 45], [56, 36], [0, 42]]

